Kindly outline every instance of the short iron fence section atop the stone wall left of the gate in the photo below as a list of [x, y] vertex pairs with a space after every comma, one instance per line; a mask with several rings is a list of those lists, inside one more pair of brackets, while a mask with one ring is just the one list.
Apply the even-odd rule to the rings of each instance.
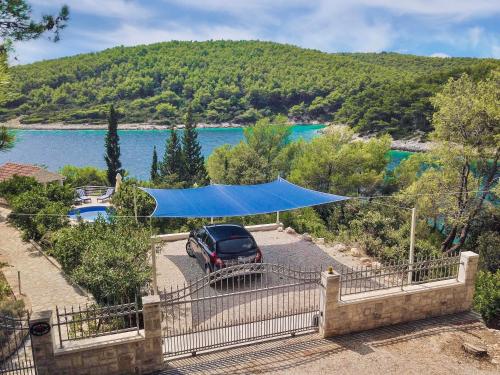
[[137, 331], [142, 310], [137, 297], [134, 302], [99, 306], [97, 304], [69, 308], [56, 306], [59, 345], [90, 337]]

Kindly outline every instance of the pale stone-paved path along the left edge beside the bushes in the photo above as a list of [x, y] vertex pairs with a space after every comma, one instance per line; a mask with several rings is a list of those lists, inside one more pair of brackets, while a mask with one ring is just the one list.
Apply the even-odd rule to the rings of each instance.
[[[0, 218], [8, 210], [0, 207]], [[63, 272], [24, 242], [17, 229], [5, 220], [0, 222], [0, 261], [12, 290], [18, 293], [18, 271], [21, 271], [21, 293], [31, 302], [32, 311], [53, 310], [55, 306], [84, 304], [88, 297], [66, 280]]]

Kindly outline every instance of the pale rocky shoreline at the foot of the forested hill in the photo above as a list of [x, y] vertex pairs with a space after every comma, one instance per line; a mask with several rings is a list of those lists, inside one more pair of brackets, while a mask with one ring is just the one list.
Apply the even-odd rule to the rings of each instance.
[[[309, 122], [309, 123], [298, 123], [292, 122], [291, 125], [325, 125], [328, 127], [342, 127], [345, 125], [334, 125], [329, 123], [320, 122]], [[19, 121], [8, 121], [6, 123], [0, 124], [0, 126], [5, 126], [8, 129], [14, 130], [106, 130], [108, 128], [107, 124], [65, 124], [65, 123], [50, 123], [50, 124], [21, 124]], [[232, 122], [224, 122], [217, 124], [207, 124], [198, 123], [196, 127], [199, 129], [240, 129], [245, 128], [249, 125], [236, 124]], [[175, 129], [184, 129], [184, 124], [175, 125]], [[167, 130], [169, 127], [167, 125], [158, 125], [151, 123], [126, 123], [119, 124], [119, 130]], [[365, 137], [360, 137], [359, 139], [367, 139]], [[391, 143], [391, 150], [397, 151], [408, 151], [408, 152], [426, 152], [432, 148], [431, 142], [420, 142], [416, 138], [412, 139], [397, 139], [393, 140]]]

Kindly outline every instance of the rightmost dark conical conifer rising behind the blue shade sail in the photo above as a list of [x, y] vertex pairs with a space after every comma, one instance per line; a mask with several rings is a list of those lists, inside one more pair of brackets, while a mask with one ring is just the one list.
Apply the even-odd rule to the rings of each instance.
[[191, 105], [188, 106], [184, 117], [186, 127], [182, 137], [182, 153], [184, 161], [184, 180], [187, 185], [206, 185], [208, 182], [205, 160], [201, 155], [201, 146], [198, 142], [198, 132], [193, 119]]

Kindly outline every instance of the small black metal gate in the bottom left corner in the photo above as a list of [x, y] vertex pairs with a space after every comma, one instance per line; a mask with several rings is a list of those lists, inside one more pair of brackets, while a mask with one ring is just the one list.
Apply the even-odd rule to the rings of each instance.
[[31, 350], [29, 316], [0, 315], [0, 374], [36, 374]]

